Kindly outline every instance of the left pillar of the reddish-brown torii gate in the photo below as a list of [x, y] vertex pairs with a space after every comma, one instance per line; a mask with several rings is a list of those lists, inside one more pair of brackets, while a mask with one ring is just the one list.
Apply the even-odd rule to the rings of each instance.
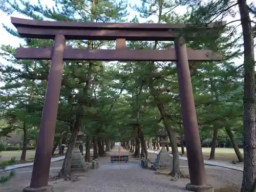
[[65, 46], [65, 36], [61, 34], [56, 35], [54, 38], [51, 67], [48, 75], [44, 108], [42, 110], [39, 136], [36, 145], [34, 160], [36, 163], [33, 164], [30, 186], [25, 187], [23, 192], [53, 191], [52, 186], [48, 185], [50, 172], [48, 167], [50, 167], [51, 164], [52, 144], [54, 141], [58, 113]]

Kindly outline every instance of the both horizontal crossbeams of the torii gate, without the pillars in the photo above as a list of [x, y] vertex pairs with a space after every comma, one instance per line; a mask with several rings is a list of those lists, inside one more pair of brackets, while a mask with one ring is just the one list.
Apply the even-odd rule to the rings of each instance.
[[[185, 24], [134, 24], [134, 23], [82, 23], [52, 22], [11, 17], [12, 24], [21, 37], [54, 39], [63, 35], [65, 39], [116, 40], [116, 50], [89, 50], [65, 47], [64, 60], [119, 60], [119, 61], [176, 61], [174, 48], [168, 50], [129, 50], [125, 40], [172, 41], [179, 29], [189, 27], [191, 37], [200, 30]], [[210, 30], [223, 26], [225, 22], [211, 23], [202, 29]], [[195, 30], [194, 30], [195, 29]], [[193, 32], [194, 31], [194, 32]], [[51, 59], [52, 46], [46, 48], [18, 48], [18, 59]], [[210, 50], [187, 49], [189, 61], [219, 61], [222, 57]]]

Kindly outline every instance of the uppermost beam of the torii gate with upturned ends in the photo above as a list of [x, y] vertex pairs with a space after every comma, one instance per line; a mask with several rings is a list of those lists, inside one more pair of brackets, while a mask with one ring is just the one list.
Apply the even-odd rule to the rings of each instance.
[[[169, 41], [174, 40], [175, 30], [193, 28], [185, 24], [52, 22], [16, 17], [11, 17], [11, 23], [17, 28], [20, 36], [43, 39], [54, 39], [56, 34], [61, 33], [66, 39], [116, 40], [125, 38], [126, 40]], [[223, 25], [225, 22], [211, 23], [206, 28], [212, 29]], [[198, 31], [198, 27], [194, 29]]]

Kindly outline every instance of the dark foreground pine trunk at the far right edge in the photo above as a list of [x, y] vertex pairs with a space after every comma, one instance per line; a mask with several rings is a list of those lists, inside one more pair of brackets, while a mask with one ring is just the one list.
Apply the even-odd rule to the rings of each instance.
[[244, 174], [241, 192], [256, 191], [254, 46], [246, 0], [238, 0], [244, 40]]

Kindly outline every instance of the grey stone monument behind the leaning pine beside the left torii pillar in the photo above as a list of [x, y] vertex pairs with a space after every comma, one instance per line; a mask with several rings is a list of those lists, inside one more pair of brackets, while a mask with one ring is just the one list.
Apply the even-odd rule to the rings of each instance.
[[86, 162], [84, 162], [84, 156], [80, 153], [79, 145], [82, 141], [76, 141], [74, 151], [71, 157], [71, 170], [87, 171], [90, 168]]

